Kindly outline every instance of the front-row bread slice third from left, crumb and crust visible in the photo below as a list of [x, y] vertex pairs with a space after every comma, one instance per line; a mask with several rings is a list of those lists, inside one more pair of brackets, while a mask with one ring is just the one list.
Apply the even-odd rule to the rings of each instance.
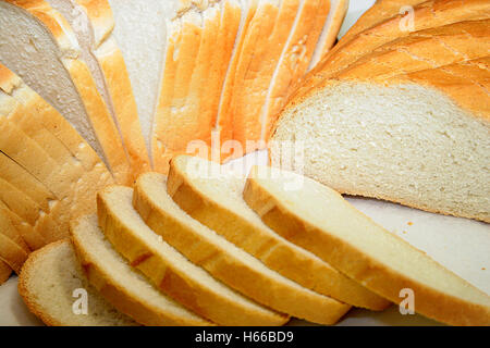
[[219, 325], [282, 325], [287, 316], [238, 295], [164, 243], [132, 206], [133, 189], [98, 195], [99, 224], [114, 248], [163, 293]]

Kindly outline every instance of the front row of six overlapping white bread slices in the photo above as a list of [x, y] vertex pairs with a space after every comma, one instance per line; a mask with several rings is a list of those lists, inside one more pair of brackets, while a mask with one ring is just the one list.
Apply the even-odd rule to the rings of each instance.
[[[487, 294], [292, 172], [258, 166], [247, 178], [180, 156], [168, 177], [100, 191], [97, 211], [23, 268], [20, 293], [47, 324], [330, 325], [406, 288], [426, 316], [490, 324]], [[87, 315], [74, 310], [81, 291]]]

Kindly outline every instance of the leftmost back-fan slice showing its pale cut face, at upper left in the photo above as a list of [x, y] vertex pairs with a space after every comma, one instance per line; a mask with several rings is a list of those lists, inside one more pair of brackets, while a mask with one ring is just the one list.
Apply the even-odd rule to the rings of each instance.
[[119, 183], [132, 183], [121, 137], [76, 35], [42, 0], [0, 2], [0, 61], [51, 103], [105, 158]]

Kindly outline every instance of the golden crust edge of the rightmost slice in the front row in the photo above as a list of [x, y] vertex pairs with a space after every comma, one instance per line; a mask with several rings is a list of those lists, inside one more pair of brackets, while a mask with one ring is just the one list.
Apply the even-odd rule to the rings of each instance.
[[[255, 179], [254, 172], [248, 178], [247, 190], [249, 191], [247, 201], [250, 207], [265, 222], [273, 225], [278, 233], [315, 252], [372, 291], [397, 303], [400, 289], [411, 288], [416, 294], [417, 312], [428, 318], [451, 325], [490, 325], [490, 307], [470, 303], [430, 288], [375, 260], [363, 250], [343, 243], [340, 238], [291, 211]], [[303, 238], [302, 235], [308, 235], [308, 238]], [[421, 251], [406, 245], [433, 262]], [[463, 279], [462, 282], [466, 283]], [[473, 287], [469, 284], [467, 286]], [[481, 295], [485, 294], [481, 293]]]

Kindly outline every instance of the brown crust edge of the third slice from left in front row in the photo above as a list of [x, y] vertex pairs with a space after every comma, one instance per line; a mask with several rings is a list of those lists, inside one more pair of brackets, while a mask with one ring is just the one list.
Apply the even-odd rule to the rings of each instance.
[[156, 245], [149, 245], [120, 219], [107, 198], [113, 190], [127, 190], [124, 194], [132, 195], [130, 188], [118, 186], [99, 192], [99, 225], [114, 248], [163, 293], [219, 325], [283, 325], [289, 320], [283, 314], [266, 309], [252, 310], [248, 306], [215, 293], [200, 279], [183, 272], [171, 259], [158, 252]]

